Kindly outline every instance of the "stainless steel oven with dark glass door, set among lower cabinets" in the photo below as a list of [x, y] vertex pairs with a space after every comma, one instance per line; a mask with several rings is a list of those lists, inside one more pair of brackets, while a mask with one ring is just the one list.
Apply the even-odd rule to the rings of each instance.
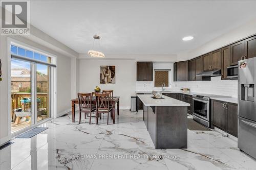
[[198, 98], [194, 96], [193, 98], [193, 119], [195, 119], [197, 122], [210, 127], [210, 109], [209, 106], [209, 98], [205, 98], [202, 96], [202, 98]]

